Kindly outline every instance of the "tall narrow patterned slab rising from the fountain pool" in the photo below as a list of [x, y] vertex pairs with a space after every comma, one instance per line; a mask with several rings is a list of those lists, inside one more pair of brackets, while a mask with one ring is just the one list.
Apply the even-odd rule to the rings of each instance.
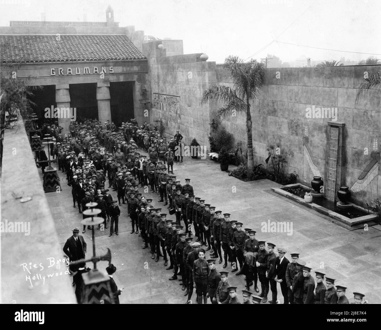
[[327, 200], [334, 202], [336, 191], [345, 185], [344, 123], [328, 121]]

